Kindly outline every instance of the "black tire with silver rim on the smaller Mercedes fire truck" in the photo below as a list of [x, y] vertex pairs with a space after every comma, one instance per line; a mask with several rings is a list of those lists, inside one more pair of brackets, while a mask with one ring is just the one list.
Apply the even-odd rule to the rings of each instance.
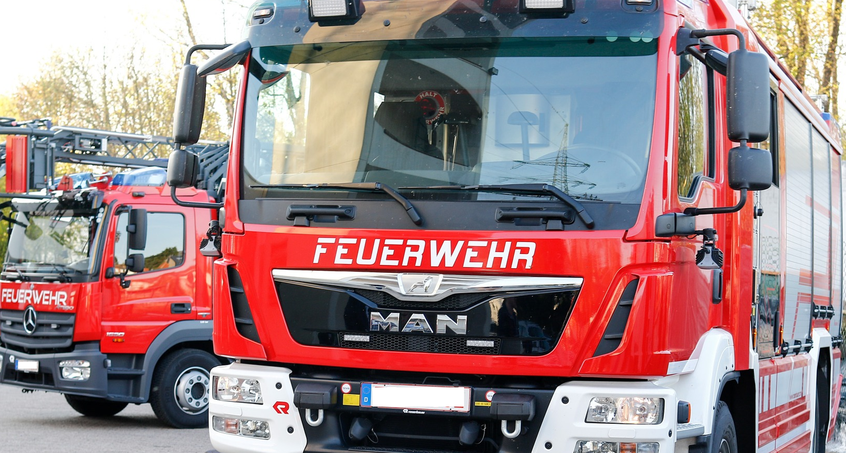
[[209, 371], [218, 365], [215, 356], [199, 349], [167, 354], [156, 366], [150, 391], [156, 417], [174, 428], [208, 427]]

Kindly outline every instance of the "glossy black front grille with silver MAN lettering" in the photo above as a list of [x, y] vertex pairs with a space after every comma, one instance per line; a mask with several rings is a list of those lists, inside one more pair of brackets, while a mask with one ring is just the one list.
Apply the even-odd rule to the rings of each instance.
[[276, 292], [288, 331], [303, 345], [521, 356], [555, 348], [579, 293], [536, 286], [420, 302], [397, 300], [387, 291], [290, 280], [277, 281]]

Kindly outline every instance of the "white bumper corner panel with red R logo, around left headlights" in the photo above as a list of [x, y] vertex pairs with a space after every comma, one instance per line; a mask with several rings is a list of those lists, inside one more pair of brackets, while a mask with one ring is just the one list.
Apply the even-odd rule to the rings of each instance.
[[[220, 453], [274, 452], [301, 453], [306, 446], [305, 431], [299, 412], [294, 408], [291, 371], [287, 368], [233, 363], [212, 369], [214, 376], [257, 379], [261, 385], [263, 404], [230, 403], [212, 399], [209, 422], [215, 415], [264, 420], [270, 424], [269, 439], [254, 439], [209, 429], [214, 448]], [[277, 384], [280, 384], [277, 388]], [[276, 406], [277, 409], [274, 409]], [[210, 425], [211, 426], [211, 425]]]

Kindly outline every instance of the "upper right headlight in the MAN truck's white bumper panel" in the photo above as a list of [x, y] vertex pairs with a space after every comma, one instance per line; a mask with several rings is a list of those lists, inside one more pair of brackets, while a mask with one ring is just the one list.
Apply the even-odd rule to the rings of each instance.
[[656, 425], [661, 423], [663, 409], [663, 398], [598, 397], [590, 400], [585, 422]]

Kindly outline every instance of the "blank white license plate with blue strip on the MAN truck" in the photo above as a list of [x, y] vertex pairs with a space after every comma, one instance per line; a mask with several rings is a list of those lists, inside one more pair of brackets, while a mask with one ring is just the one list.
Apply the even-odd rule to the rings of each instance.
[[361, 406], [417, 411], [469, 412], [470, 387], [361, 384]]

